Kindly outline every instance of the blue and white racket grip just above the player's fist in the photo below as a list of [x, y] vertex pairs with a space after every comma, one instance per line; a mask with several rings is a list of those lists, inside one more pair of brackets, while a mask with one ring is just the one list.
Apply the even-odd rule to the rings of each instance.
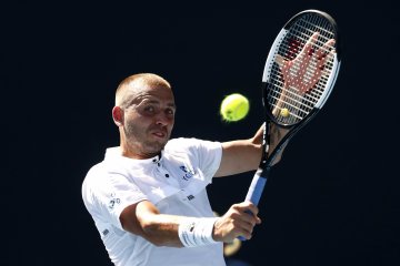
[[[270, 167], [267, 168], [258, 168], [249, 187], [249, 191], [246, 195], [246, 201], [251, 202], [256, 206], [259, 204], [262, 192], [267, 184], [267, 176], [270, 171]], [[250, 211], [246, 211], [246, 213], [251, 214]], [[240, 241], [246, 241], [243, 236], [238, 237]]]

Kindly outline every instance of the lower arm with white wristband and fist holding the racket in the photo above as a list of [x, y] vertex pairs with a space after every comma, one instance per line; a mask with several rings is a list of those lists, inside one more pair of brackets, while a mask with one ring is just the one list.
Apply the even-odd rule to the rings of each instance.
[[167, 215], [160, 214], [152, 203], [143, 201], [124, 208], [120, 221], [123, 229], [156, 246], [193, 247], [231, 242], [238, 236], [250, 239], [253, 226], [261, 223], [257, 214], [257, 206], [243, 202], [233, 204], [218, 218]]

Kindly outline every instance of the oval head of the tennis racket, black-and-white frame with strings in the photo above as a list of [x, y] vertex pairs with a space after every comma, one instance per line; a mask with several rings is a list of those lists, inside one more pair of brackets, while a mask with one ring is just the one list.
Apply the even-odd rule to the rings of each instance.
[[[334, 44], [327, 45], [331, 40], [334, 40]], [[339, 72], [339, 47], [337, 23], [326, 12], [306, 10], [284, 24], [271, 47], [262, 75], [262, 100], [269, 120], [279, 126], [292, 127], [309, 121], [323, 106]], [[313, 53], [308, 53], [308, 48]], [[326, 57], [323, 70], [319, 66], [318, 54]], [[307, 68], [302, 68], [301, 62], [307, 60], [307, 55], [311, 59], [306, 64]], [[296, 71], [306, 70], [304, 82], [306, 79], [316, 76], [318, 69], [321, 69], [321, 76], [307, 91], [286, 85], [289, 79], [283, 78], [283, 71], [289, 62], [294, 65], [290, 70], [292, 76], [299, 74]]]

